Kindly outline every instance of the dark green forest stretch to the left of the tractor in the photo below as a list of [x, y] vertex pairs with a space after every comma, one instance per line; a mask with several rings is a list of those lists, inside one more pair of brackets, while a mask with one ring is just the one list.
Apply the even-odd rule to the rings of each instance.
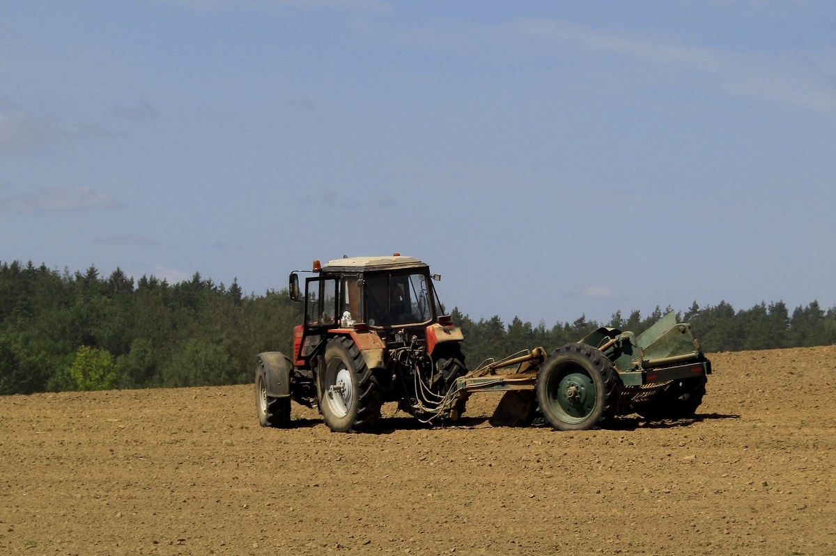
[[0, 264], [0, 394], [220, 386], [252, 381], [254, 355], [289, 352], [302, 307], [195, 273], [169, 284]]

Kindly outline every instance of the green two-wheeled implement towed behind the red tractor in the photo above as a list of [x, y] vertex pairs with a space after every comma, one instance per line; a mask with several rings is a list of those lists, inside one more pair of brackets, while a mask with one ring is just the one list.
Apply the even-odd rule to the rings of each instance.
[[537, 347], [489, 361], [456, 379], [440, 412], [455, 421], [467, 397], [504, 391], [491, 419], [495, 426], [542, 417], [557, 430], [585, 430], [630, 413], [678, 419], [696, 412], [709, 374], [711, 361], [691, 326], [669, 313], [639, 336], [602, 327], [551, 354]]

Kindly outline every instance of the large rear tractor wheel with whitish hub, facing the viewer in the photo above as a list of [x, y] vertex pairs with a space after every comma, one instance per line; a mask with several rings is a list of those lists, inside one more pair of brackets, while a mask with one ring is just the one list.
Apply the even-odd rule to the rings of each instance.
[[333, 432], [363, 432], [380, 417], [383, 400], [377, 377], [354, 341], [332, 338], [319, 377], [319, 412]]

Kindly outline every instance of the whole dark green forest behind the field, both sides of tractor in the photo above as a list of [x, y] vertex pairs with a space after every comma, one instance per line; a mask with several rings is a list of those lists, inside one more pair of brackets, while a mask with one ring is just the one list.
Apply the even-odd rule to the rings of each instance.
[[[619, 311], [609, 322], [581, 316], [551, 327], [498, 316], [474, 321], [458, 308], [451, 314], [475, 368], [490, 356], [552, 350], [599, 326], [640, 333], [667, 311]], [[70, 273], [0, 263], [0, 395], [251, 382], [258, 352], [290, 352], [301, 312], [285, 290], [244, 296], [237, 281], [224, 286], [199, 273], [169, 284], [154, 276], [135, 281], [118, 268], [103, 276], [94, 266]], [[677, 316], [706, 352], [836, 343], [836, 307], [817, 301], [792, 312], [782, 301], [741, 311], [695, 301]]]

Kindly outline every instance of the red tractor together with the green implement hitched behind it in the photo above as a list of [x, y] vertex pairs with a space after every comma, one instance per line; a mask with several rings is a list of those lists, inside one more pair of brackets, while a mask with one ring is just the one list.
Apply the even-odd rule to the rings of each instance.
[[355, 257], [314, 261], [293, 299], [304, 302], [293, 353], [258, 354], [259, 422], [290, 422], [290, 402], [319, 408], [334, 432], [370, 430], [384, 402], [422, 422], [455, 422], [467, 398], [505, 392], [494, 425], [542, 418], [558, 430], [605, 427], [618, 415], [689, 417], [706, 392], [711, 362], [691, 326], [669, 313], [639, 335], [602, 327], [549, 353], [536, 347], [467, 371], [461, 330], [444, 314], [421, 260]]

